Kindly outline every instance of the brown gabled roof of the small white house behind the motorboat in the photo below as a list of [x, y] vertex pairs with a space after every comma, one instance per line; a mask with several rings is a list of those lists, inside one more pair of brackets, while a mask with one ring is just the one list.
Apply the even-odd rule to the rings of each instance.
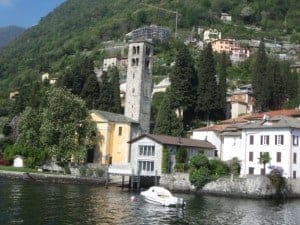
[[176, 145], [176, 146], [185, 146], [185, 147], [196, 147], [196, 148], [205, 148], [205, 149], [215, 149], [216, 147], [208, 142], [195, 140], [190, 138], [181, 138], [181, 137], [173, 137], [167, 135], [155, 135], [155, 134], [143, 134], [137, 138], [134, 138], [129, 141], [129, 143], [135, 142], [143, 137], [148, 137], [160, 144], [165, 145]]

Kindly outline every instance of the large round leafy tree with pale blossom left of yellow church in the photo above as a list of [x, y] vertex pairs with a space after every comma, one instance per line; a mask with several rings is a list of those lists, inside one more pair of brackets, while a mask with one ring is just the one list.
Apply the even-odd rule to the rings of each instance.
[[82, 161], [91, 133], [84, 101], [59, 88], [47, 91], [46, 98], [39, 135], [44, 149], [64, 163], [71, 157]]

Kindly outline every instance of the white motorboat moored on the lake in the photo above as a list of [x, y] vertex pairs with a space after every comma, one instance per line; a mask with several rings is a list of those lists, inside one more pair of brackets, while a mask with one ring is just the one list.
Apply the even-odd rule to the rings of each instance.
[[185, 202], [183, 198], [175, 197], [170, 191], [163, 187], [153, 186], [146, 191], [142, 191], [141, 195], [145, 201], [163, 205], [163, 206], [184, 206]]

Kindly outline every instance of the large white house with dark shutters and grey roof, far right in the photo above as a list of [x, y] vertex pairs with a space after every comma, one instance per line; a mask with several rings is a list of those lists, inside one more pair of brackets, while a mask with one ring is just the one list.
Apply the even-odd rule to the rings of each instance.
[[[242, 130], [242, 163], [241, 175], [269, 173], [269, 166], [281, 167], [284, 176], [300, 177], [300, 121], [286, 116], [275, 116], [249, 123]], [[270, 163], [263, 170], [259, 157], [267, 152]]]

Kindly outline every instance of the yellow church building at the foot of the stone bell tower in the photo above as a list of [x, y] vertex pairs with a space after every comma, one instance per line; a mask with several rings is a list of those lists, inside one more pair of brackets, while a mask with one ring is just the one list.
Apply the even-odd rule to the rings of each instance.
[[[139, 124], [121, 114], [92, 110], [92, 121], [96, 123], [98, 140], [93, 156], [88, 161], [101, 164], [124, 164], [130, 159], [127, 143], [139, 135]], [[91, 159], [92, 158], [92, 159]]]

